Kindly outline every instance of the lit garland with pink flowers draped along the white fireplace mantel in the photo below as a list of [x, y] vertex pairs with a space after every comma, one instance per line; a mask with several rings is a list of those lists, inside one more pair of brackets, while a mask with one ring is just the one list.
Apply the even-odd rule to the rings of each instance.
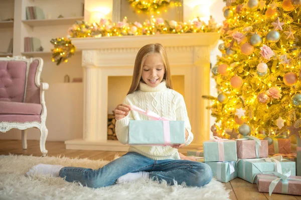
[[[85, 21], [77, 21], [69, 28], [70, 35], [68, 38], [172, 33], [181, 34], [218, 32], [219, 30], [220, 26], [217, 26], [213, 18], [208, 21], [208, 24], [201, 21], [199, 18], [189, 21], [188, 23], [177, 22], [174, 20], [168, 21], [163, 18], [152, 18], [152, 21], [145, 20], [141, 24], [139, 22], [128, 23], [125, 17], [123, 21], [119, 21], [117, 23], [113, 23], [109, 19], [101, 19], [99, 24], [89, 24]], [[57, 65], [60, 64], [61, 61], [66, 62], [68, 58], [74, 54], [75, 47], [68, 38], [56, 38], [51, 40], [51, 43], [55, 45], [52, 49], [52, 61], [56, 62]]]

